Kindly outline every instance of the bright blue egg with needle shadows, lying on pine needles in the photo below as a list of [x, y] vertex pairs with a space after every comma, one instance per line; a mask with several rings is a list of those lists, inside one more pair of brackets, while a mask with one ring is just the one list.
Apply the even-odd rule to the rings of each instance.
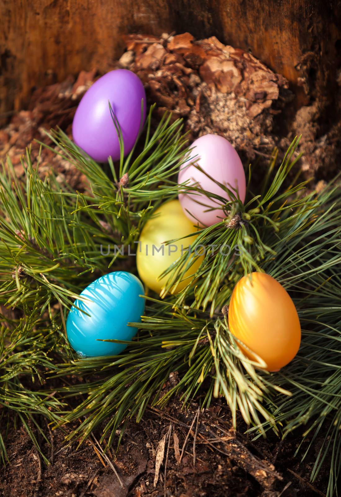
[[105, 274], [90, 283], [80, 294], [82, 300], [77, 299], [68, 313], [67, 334], [71, 347], [81, 357], [122, 352], [126, 343], [98, 340], [131, 340], [136, 335], [137, 328], [128, 323], [141, 321], [145, 302], [140, 295], [144, 295], [142, 283], [125, 271]]

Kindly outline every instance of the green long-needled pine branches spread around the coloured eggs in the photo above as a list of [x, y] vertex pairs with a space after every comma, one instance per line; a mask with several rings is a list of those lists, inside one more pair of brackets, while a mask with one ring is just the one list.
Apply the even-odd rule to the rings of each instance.
[[[245, 205], [226, 203], [221, 220], [199, 231], [192, 250], [208, 249], [195, 284], [189, 281], [177, 296], [165, 291], [163, 299], [149, 293], [138, 336], [123, 353], [77, 359], [69, 348], [64, 327], [73, 300], [95, 277], [132, 259], [120, 252], [102, 255], [100, 246], [133, 248], [154, 209], [188, 188], [176, 182], [179, 165], [191, 154], [182, 122], [165, 115], [151, 135], [150, 119], [151, 111], [135, 151], [119, 164], [109, 162], [107, 170], [62, 132], [50, 135], [61, 143], [58, 153], [87, 177], [84, 192], [60, 185], [53, 173], [41, 180], [29, 151], [24, 180], [15, 177], [9, 159], [2, 166], [0, 304], [16, 314], [1, 317], [0, 415], [19, 416], [37, 448], [41, 416], [56, 426], [82, 419], [67, 440], [82, 441], [105, 423], [102, 441], [111, 446], [120, 442], [117, 428], [129, 418], [140, 420], [148, 405], [163, 406], [178, 395], [184, 405], [196, 397], [208, 406], [212, 396], [223, 396], [234, 425], [239, 410], [256, 437], [269, 429], [285, 436], [301, 425], [307, 425], [306, 437], [323, 433], [312, 478], [331, 452], [331, 497], [341, 460], [341, 200], [333, 184], [320, 194], [305, 193], [298, 178], [290, 184], [297, 139], [278, 168], [273, 154], [260, 193], [248, 190]], [[198, 185], [191, 189], [202, 193]], [[212, 245], [238, 250], [224, 255]], [[165, 290], [192, 261], [185, 253], [165, 272]], [[290, 292], [302, 324], [299, 354], [278, 373], [242, 354], [226, 308], [220, 312], [234, 284], [255, 269]], [[175, 371], [179, 382], [163, 389]], [[68, 381], [71, 375], [79, 381]], [[55, 378], [64, 385], [55, 389]], [[4, 443], [0, 438], [3, 462]]]

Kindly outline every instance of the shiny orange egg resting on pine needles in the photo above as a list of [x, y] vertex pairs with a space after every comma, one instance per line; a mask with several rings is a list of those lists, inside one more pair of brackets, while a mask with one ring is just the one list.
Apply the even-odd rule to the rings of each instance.
[[257, 360], [255, 352], [269, 371], [288, 364], [301, 343], [294, 303], [282, 285], [265, 273], [254, 272], [238, 281], [230, 300], [228, 326], [248, 347], [238, 343], [244, 354]]

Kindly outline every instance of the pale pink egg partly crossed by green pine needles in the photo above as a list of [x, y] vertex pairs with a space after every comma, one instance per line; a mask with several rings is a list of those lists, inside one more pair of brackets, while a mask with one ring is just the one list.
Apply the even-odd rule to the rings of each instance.
[[[191, 158], [180, 167], [178, 183], [190, 180], [189, 184], [197, 183], [207, 192], [220, 195], [227, 202], [233, 200], [216, 183], [218, 181], [227, 186], [235, 196], [237, 196], [235, 192], [235, 189], [237, 189], [239, 198], [244, 203], [246, 192], [244, 168], [230, 142], [219, 135], [204, 135], [198, 138], [192, 147], [194, 149], [191, 152]], [[195, 164], [200, 166], [215, 181], [212, 181], [204, 172], [197, 169]], [[202, 226], [211, 226], [226, 217], [226, 214], [221, 209], [224, 204], [217, 199], [207, 197], [203, 193], [181, 193], [179, 200], [186, 216], [195, 223], [199, 221]], [[212, 209], [212, 207], [215, 207], [215, 209]]]

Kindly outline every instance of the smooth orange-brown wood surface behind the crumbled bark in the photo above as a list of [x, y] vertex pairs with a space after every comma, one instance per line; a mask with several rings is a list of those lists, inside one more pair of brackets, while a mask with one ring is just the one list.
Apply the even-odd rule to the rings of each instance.
[[215, 35], [285, 76], [299, 104], [328, 99], [341, 64], [340, 11], [336, 0], [0, 0], [0, 118], [37, 86], [105, 69], [129, 32]]

